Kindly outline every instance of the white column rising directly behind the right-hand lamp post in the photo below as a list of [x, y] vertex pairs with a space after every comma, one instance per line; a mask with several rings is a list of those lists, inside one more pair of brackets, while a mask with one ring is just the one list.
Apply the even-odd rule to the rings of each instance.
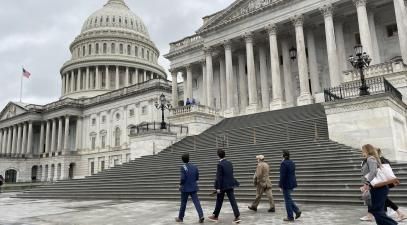
[[[363, 51], [373, 56], [372, 37], [370, 34], [369, 22], [367, 18], [366, 2], [367, 0], [353, 0], [356, 5], [359, 23], [360, 41], [362, 42]], [[372, 58], [372, 64], [376, 64], [377, 59]]]

